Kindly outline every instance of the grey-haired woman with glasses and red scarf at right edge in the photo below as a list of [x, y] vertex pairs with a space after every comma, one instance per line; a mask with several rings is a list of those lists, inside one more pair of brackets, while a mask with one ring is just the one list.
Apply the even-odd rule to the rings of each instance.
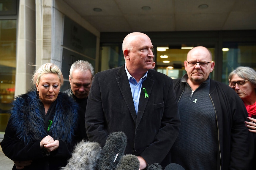
[[245, 126], [250, 132], [256, 133], [256, 72], [251, 67], [240, 66], [229, 76], [229, 86], [233, 88], [243, 100], [248, 112], [249, 122]]

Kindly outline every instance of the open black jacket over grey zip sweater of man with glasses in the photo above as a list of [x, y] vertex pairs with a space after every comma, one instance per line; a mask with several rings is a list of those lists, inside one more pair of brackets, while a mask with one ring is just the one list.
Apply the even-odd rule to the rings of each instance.
[[[181, 79], [174, 79], [178, 101], [184, 91], [184, 85]], [[232, 88], [211, 79], [209, 96], [217, 116], [218, 169], [251, 169], [252, 153], [249, 146], [252, 145], [253, 139], [244, 124], [244, 121], [248, 120], [248, 114], [243, 101]], [[175, 153], [172, 154], [175, 156]]]

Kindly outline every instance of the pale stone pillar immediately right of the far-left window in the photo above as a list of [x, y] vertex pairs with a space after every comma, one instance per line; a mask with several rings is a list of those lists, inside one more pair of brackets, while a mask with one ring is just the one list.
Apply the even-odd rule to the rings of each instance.
[[16, 55], [16, 81], [15, 96], [26, 93], [31, 89], [31, 77], [35, 64], [35, 1], [20, 0], [17, 55]]

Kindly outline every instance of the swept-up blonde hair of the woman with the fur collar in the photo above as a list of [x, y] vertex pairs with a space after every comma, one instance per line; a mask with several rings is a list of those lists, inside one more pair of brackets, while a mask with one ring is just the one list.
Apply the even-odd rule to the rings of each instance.
[[44, 74], [48, 74], [48, 73], [53, 73], [58, 75], [59, 79], [60, 79], [60, 86], [63, 85], [63, 75], [61, 70], [59, 69], [58, 66], [56, 66], [53, 63], [46, 63], [43, 64], [42, 66], [39, 67], [39, 69], [37, 69], [32, 77], [32, 82], [34, 85], [39, 84], [40, 78], [42, 77], [42, 75]]

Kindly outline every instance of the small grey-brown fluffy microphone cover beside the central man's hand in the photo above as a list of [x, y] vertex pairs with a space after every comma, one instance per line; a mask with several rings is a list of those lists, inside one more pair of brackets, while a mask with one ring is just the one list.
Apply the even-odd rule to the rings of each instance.
[[126, 154], [121, 157], [115, 170], [138, 170], [140, 168], [140, 161], [137, 156]]

